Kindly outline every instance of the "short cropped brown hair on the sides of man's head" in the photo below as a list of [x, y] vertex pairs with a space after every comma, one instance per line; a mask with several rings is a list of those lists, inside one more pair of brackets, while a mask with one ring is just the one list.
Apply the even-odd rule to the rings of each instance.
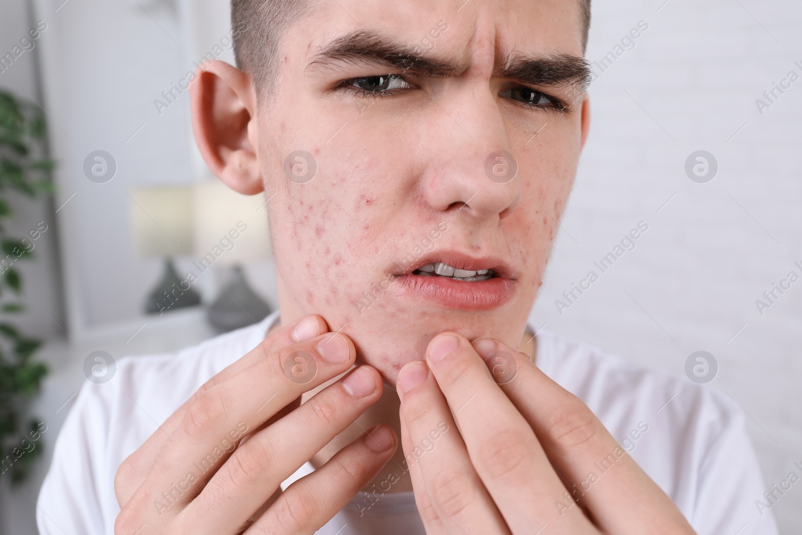
[[[579, 1], [582, 53], [588, 44], [590, 1]], [[314, 0], [231, 0], [231, 26], [237, 28], [234, 57], [260, 95], [269, 94], [279, 74], [279, 45], [292, 24], [314, 8]]]

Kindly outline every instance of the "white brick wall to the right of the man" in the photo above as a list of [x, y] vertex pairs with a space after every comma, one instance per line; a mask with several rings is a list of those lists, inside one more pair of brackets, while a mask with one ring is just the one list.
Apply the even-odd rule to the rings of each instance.
[[[590, 61], [638, 21], [649, 29], [591, 87], [591, 132], [562, 221], [579, 245], [560, 233], [533, 319], [678, 374], [692, 352], [710, 351], [719, 375], [709, 387], [750, 415], [770, 484], [802, 460], [802, 281], [763, 316], [755, 306], [789, 270], [802, 275], [802, 79], [763, 116], [755, 99], [789, 70], [802, 75], [802, 3], [669, 0], [658, 11], [663, 2], [594, 2]], [[699, 149], [719, 162], [707, 184], [684, 171]], [[638, 221], [650, 227], [637, 249], [558, 314], [554, 300]], [[802, 489], [772, 512], [781, 533], [802, 533]]]

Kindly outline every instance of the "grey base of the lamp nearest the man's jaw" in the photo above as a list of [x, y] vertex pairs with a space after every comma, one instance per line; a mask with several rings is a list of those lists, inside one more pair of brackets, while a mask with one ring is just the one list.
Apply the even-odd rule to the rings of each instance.
[[209, 323], [222, 331], [229, 331], [260, 322], [272, 310], [253, 293], [240, 265], [231, 269], [231, 279], [220, 296], [209, 306], [206, 317]]

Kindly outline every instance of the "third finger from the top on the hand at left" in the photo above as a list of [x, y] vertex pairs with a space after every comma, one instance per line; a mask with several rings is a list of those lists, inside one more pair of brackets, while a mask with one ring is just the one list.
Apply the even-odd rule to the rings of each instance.
[[238, 521], [235, 525], [247, 521], [283, 480], [375, 403], [382, 389], [375, 368], [358, 367], [269, 428], [253, 434], [181, 513], [184, 521], [189, 521], [188, 533], [223, 533], [234, 519]]

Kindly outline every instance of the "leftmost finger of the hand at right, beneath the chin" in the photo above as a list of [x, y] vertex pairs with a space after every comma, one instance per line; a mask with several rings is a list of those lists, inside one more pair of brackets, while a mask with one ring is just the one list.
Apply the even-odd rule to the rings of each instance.
[[[445, 533], [509, 533], [468, 458], [448, 403], [426, 363], [408, 363], [397, 391], [411, 443], [407, 464], [419, 464], [423, 492]], [[431, 515], [430, 515], [431, 516]]]

